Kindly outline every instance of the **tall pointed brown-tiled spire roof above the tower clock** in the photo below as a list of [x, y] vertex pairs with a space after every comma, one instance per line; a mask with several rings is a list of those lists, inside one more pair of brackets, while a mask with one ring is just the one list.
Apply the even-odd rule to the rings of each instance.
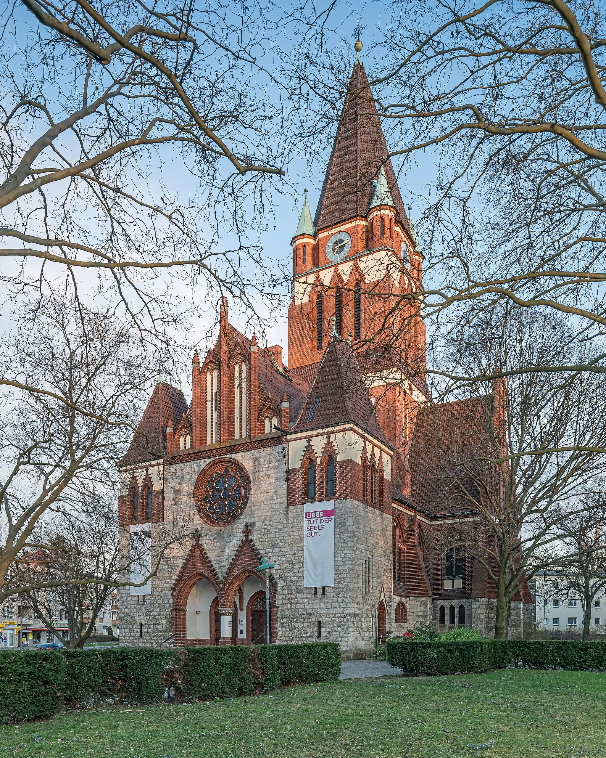
[[396, 217], [408, 230], [408, 219], [392, 161], [385, 161], [387, 155], [389, 151], [376, 115], [366, 71], [358, 63], [351, 72], [333, 152], [317, 204], [314, 218], [316, 229], [326, 229], [351, 218], [364, 217], [373, 196], [373, 179], [377, 178], [383, 164]]

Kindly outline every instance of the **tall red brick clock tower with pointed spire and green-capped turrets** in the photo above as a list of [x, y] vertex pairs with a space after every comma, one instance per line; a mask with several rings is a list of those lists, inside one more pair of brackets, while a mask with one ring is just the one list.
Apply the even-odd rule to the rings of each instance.
[[364, 66], [354, 66], [312, 221], [307, 196], [292, 238], [289, 368], [310, 380], [336, 333], [351, 340], [376, 412], [395, 448], [395, 484], [410, 493], [405, 463], [425, 384], [426, 332], [414, 293], [423, 254], [406, 217]]

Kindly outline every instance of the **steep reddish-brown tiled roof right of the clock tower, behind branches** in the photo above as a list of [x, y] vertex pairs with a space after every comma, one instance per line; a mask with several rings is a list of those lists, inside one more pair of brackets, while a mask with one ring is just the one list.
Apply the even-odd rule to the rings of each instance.
[[[411, 498], [421, 512], [439, 516], [473, 511], [473, 504], [461, 495], [455, 480], [464, 478], [464, 466], [477, 470], [486, 460], [483, 404], [487, 400], [473, 397], [418, 409], [408, 465]], [[467, 491], [470, 487], [477, 485], [469, 481]]]

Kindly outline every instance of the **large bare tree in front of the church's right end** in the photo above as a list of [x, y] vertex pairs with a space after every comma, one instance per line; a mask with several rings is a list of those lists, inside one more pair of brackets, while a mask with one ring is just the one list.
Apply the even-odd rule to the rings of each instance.
[[[447, 539], [495, 582], [495, 637], [504, 638], [520, 585], [561, 559], [556, 543], [572, 536], [573, 519], [604, 474], [606, 387], [600, 374], [520, 371], [591, 358], [574, 329], [549, 312], [497, 309], [461, 331], [451, 335], [452, 371], [508, 378], [472, 383], [448, 396], [453, 402], [420, 412], [411, 458], [415, 445], [439, 451], [428, 474], [461, 513]], [[597, 518], [593, 512], [591, 523]]]

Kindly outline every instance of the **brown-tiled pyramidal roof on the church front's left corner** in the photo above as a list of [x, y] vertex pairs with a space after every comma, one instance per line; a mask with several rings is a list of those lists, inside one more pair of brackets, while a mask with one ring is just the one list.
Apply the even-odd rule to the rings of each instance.
[[187, 402], [181, 390], [166, 382], [156, 384], [127, 454], [118, 461], [118, 465], [134, 465], [162, 458], [166, 449], [168, 421], [173, 421], [176, 428], [186, 412]]

